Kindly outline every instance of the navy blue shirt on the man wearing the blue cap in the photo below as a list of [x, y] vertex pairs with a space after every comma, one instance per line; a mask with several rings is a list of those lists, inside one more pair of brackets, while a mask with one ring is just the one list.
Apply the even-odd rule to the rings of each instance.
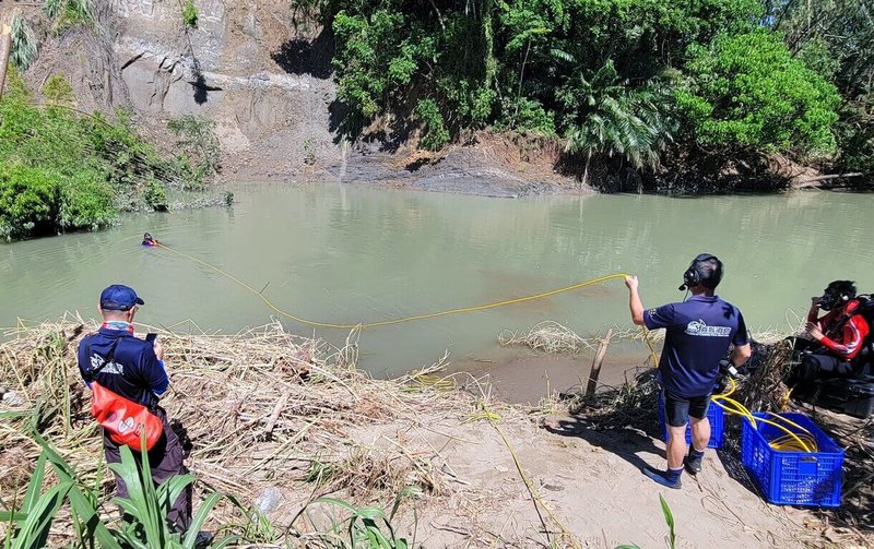
[[[94, 375], [94, 380], [109, 391], [160, 411], [158, 396], [169, 386], [164, 362], [155, 356], [152, 342], [134, 337], [127, 330], [101, 327], [79, 344], [79, 371], [87, 382], [86, 372], [99, 367], [116, 346], [114, 358]], [[163, 419], [163, 414], [160, 417]]]

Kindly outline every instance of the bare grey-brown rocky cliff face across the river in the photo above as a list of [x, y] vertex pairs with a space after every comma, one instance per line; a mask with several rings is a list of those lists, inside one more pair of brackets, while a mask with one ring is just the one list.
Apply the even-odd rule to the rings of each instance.
[[296, 24], [287, 1], [198, 0], [194, 29], [178, 0], [98, 3], [98, 32], [68, 31], [43, 46], [29, 71], [36, 86], [62, 72], [81, 108], [127, 107], [157, 132], [184, 115], [211, 118], [232, 175], [339, 165], [332, 39]]

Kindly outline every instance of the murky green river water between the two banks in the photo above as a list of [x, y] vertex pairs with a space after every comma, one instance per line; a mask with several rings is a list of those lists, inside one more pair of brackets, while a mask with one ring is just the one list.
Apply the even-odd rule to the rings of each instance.
[[[101, 289], [120, 282], [145, 299], [143, 323], [236, 333], [275, 318], [290, 331], [341, 344], [349, 330], [280, 315], [231, 277], [302, 319], [369, 323], [617, 272], [637, 274], [643, 305], [652, 307], [683, 299], [682, 273], [705, 251], [724, 262], [718, 293], [754, 331], [795, 327], [810, 297], [831, 279], [874, 290], [874, 194], [509, 200], [334, 183], [250, 184], [235, 194], [231, 208], [130, 215], [102, 232], [0, 244], [0, 326], [64, 311], [96, 317]], [[188, 256], [141, 247], [144, 231]], [[545, 320], [582, 336], [627, 330], [627, 290], [611, 279], [536, 301], [367, 329], [361, 365], [395, 374], [448, 351], [456, 367], [542, 369], [543, 357], [503, 349], [497, 336]], [[646, 355], [639, 343], [612, 353], [624, 365]], [[588, 371], [591, 357], [581, 360]], [[527, 383], [545, 384], [533, 379]]]

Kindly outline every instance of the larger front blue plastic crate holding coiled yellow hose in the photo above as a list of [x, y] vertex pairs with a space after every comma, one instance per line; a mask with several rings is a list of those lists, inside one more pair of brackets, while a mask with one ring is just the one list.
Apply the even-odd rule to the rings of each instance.
[[[793, 433], [801, 433], [770, 414], [753, 414], [754, 417], [775, 421]], [[771, 503], [783, 505], [840, 506], [841, 465], [843, 450], [828, 438], [803, 414], [780, 414], [798, 423], [816, 439], [817, 452], [781, 452], [773, 450], [768, 441], [786, 434], [786, 431], [757, 421], [753, 427], [744, 420], [741, 433], [741, 461], [753, 474], [759, 488]]]

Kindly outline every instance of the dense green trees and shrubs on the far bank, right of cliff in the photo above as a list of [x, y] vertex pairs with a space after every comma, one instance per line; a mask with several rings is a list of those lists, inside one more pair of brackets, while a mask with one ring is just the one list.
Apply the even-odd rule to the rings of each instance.
[[430, 150], [484, 128], [535, 133], [562, 140], [583, 174], [593, 156], [656, 166], [669, 145], [874, 168], [869, 0], [297, 8], [333, 29], [352, 138], [377, 119], [420, 130], [420, 146]]

